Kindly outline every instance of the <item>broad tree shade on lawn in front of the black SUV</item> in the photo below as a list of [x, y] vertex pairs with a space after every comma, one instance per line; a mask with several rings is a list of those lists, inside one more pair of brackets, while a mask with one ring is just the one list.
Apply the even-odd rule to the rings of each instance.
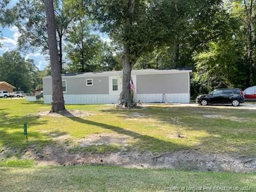
[[[190, 146], [192, 149], [215, 151], [217, 153], [235, 152], [256, 155], [256, 111], [220, 109], [212, 107], [165, 107], [150, 106], [143, 109], [107, 109], [103, 113], [110, 113], [134, 121], [147, 121], [154, 119], [159, 124], [174, 125], [172, 118], [178, 118], [181, 131], [187, 133], [186, 137], [196, 138], [198, 143]], [[203, 115], [221, 115], [221, 118], [206, 118]], [[222, 118], [223, 117], [223, 118]], [[209, 136], [189, 135], [195, 131], [205, 132]], [[170, 132], [169, 132], [170, 133]], [[185, 147], [186, 148], [186, 147]]]

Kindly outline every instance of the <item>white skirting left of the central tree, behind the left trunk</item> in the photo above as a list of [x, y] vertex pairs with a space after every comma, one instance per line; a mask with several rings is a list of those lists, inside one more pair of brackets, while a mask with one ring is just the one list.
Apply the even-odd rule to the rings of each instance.
[[[110, 104], [118, 103], [119, 95], [108, 94], [64, 94], [64, 101], [66, 104]], [[44, 95], [44, 103], [51, 103], [52, 95]]]

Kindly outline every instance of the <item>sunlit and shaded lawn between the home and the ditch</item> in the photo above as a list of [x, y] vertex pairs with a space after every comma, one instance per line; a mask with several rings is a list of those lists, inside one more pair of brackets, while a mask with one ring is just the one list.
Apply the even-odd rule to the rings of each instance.
[[[38, 150], [54, 142], [54, 134], [69, 135], [67, 142], [90, 134], [116, 133], [129, 136], [127, 150], [150, 150], [154, 154], [192, 149], [207, 153], [256, 155], [256, 110], [218, 107], [155, 105], [142, 109], [117, 109], [111, 105], [67, 105], [68, 110], [84, 110], [85, 117], [38, 116], [50, 105], [25, 99], [0, 99], [0, 151], [16, 154], [28, 146]], [[207, 118], [203, 115], [221, 115]], [[173, 122], [178, 119], [178, 123]], [[28, 124], [28, 140], [23, 135]], [[177, 137], [177, 132], [184, 138]], [[74, 142], [75, 143], [75, 142]], [[118, 150], [117, 146], [90, 146], [84, 151]], [[122, 148], [122, 146], [119, 146]], [[74, 150], [77, 146], [74, 144]]]

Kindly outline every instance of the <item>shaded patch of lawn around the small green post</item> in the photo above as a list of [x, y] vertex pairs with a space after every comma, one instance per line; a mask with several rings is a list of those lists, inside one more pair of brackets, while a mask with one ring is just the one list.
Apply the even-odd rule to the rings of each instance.
[[[35, 130], [35, 126], [43, 125], [46, 122], [37, 115], [9, 116], [5, 110], [0, 110], [0, 159], [11, 156], [19, 157], [22, 151], [29, 146], [34, 146], [35, 150], [42, 150], [52, 141], [54, 135], [38, 132]], [[24, 123], [28, 125], [28, 139], [23, 133]], [[33, 129], [30, 129], [31, 126]]]

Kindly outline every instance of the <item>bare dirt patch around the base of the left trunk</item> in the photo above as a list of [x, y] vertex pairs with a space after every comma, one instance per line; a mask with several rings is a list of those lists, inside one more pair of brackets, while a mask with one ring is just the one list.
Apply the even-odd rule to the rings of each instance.
[[69, 110], [69, 111], [63, 111], [61, 114], [50, 113], [49, 111], [40, 111], [38, 115], [50, 116], [50, 117], [85, 117], [85, 116], [91, 116], [94, 114], [88, 111]]

